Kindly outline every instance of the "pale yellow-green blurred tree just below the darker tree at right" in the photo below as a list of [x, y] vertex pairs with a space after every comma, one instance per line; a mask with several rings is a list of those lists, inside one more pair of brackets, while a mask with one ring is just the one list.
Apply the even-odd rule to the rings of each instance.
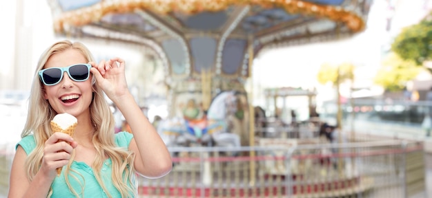
[[409, 80], [419, 74], [422, 67], [418, 67], [413, 60], [404, 60], [395, 53], [391, 53], [378, 70], [374, 83], [384, 87], [387, 91], [401, 91]]

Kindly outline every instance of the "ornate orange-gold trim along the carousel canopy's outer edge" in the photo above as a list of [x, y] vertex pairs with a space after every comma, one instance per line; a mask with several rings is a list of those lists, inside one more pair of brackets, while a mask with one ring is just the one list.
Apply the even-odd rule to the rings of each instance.
[[196, 14], [199, 12], [217, 12], [232, 5], [260, 5], [264, 8], [284, 8], [286, 12], [308, 14], [315, 17], [326, 17], [340, 21], [353, 32], [364, 29], [364, 21], [353, 12], [331, 5], [318, 5], [300, 0], [123, 0], [101, 1], [86, 8], [64, 12], [54, 19], [55, 32], [65, 32], [65, 27], [88, 25], [100, 21], [110, 13], [134, 12], [135, 9], [151, 10], [158, 14], [169, 12], [184, 12]]

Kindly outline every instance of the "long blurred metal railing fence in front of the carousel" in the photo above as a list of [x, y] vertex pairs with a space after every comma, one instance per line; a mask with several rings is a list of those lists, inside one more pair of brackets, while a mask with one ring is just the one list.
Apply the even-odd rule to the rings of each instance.
[[[262, 138], [254, 147], [170, 148], [173, 170], [139, 177], [139, 197], [426, 197], [422, 142], [308, 144]], [[7, 195], [13, 153], [0, 155]]]

